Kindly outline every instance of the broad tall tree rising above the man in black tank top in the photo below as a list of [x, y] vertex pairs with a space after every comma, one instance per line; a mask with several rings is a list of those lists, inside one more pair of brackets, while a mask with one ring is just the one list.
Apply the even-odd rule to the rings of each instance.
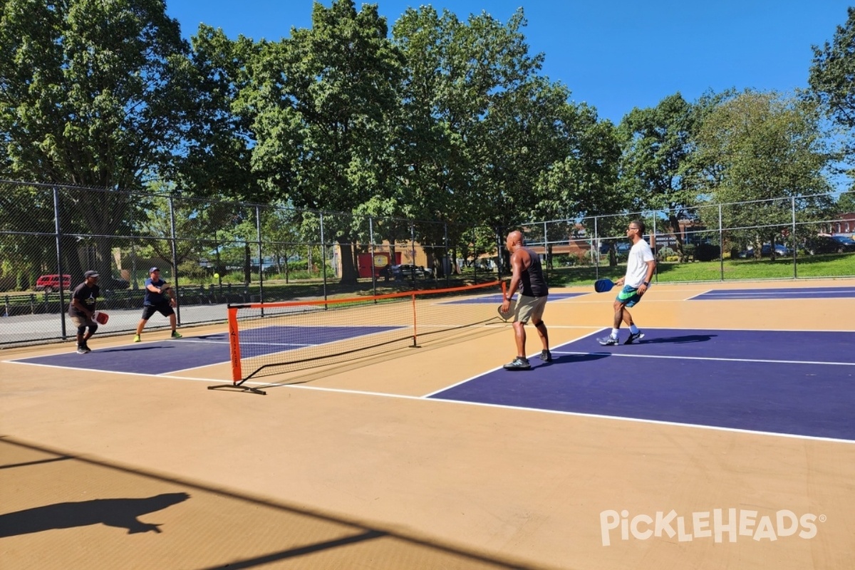
[[[392, 30], [407, 66], [398, 162], [410, 169], [398, 203], [408, 204], [407, 215], [451, 222], [461, 250], [469, 249], [462, 228], [486, 222], [502, 234], [534, 216], [565, 214], [585, 201], [568, 194], [597, 178], [602, 155], [590, 151], [604, 131], [593, 109], [569, 103], [565, 86], [540, 76], [544, 56], [529, 54], [525, 25], [522, 9], [503, 24], [423, 6]], [[561, 176], [571, 171], [572, 180]]]

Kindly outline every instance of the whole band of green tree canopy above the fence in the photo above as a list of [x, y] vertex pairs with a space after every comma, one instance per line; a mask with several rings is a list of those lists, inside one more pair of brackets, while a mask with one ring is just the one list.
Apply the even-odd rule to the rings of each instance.
[[386, 219], [375, 239], [428, 247], [483, 241], [457, 228], [551, 219], [567, 233], [628, 209], [667, 212], [679, 235], [711, 199], [830, 190], [840, 156], [816, 109], [855, 128], [855, 9], [815, 48], [800, 102], [675, 93], [614, 126], [542, 74], [523, 9], [502, 22], [422, 6], [390, 27], [377, 4], [333, 0], [279, 41], [202, 25], [187, 43], [162, 0], [2, 6], [0, 176], [100, 191], [97, 208], [62, 195], [64, 232], [123, 233], [128, 209], [162, 202], [113, 191], [148, 188], [302, 210], [299, 226], [345, 249], [364, 243], [368, 215]]

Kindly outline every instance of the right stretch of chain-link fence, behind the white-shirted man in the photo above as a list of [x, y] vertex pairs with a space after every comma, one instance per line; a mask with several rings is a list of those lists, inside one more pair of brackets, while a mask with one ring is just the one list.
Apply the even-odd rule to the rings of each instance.
[[[855, 252], [855, 207], [847, 204], [855, 204], [855, 192], [836, 199], [818, 194], [530, 221], [522, 228], [552, 277], [565, 267], [587, 269], [596, 277], [604, 267], [626, 263], [626, 228], [632, 220], [645, 225], [645, 239], [657, 256], [657, 279], [669, 264], [695, 261], [717, 262], [695, 278], [701, 280], [851, 277], [855, 256], [846, 254]], [[752, 271], [749, 263], [726, 267], [730, 260], [773, 261], [775, 271]]]

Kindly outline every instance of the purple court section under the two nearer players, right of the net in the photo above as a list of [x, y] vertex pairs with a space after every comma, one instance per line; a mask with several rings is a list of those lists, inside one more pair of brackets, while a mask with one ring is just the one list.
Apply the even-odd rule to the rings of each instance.
[[499, 368], [430, 397], [855, 441], [852, 332], [642, 332], [604, 347], [604, 330], [553, 349], [551, 363], [533, 356], [531, 370]]

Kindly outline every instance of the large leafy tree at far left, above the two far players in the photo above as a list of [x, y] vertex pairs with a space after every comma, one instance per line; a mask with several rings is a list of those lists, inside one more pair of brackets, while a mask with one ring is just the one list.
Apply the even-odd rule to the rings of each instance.
[[[3, 3], [2, 175], [82, 187], [62, 193], [61, 226], [98, 236], [102, 273], [129, 206], [110, 190], [141, 188], [181, 139], [186, 50], [162, 0]], [[74, 238], [63, 250], [76, 250]], [[82, 274], [77, 256], [66, 264]]]

